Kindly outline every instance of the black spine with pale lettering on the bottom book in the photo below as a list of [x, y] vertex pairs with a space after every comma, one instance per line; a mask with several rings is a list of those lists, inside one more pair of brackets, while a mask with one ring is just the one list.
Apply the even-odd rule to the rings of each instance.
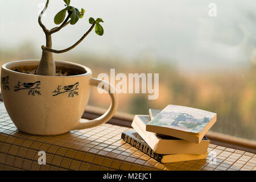
[[140, 142], [137, 139], [129, 137], [125, 133], [122, 133], [121, 138], [129, 143], [131, 146], [137, 148], [139, 151], [142, 151], [144, 154], [150, 156], [151, 158], [155, 159], [156, 161], [162, 163], [162, 154], [156, 154], [150, 147], [146, 146], [144, 143]]

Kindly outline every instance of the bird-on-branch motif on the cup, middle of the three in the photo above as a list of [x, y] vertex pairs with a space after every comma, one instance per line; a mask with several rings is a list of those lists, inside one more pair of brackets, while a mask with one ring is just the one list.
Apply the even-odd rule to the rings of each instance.
[[36, 82], [22, 82], [18, 81], [17, 85], [14, 86], [14, 92], [17, 92], [19, 90], [28, 90], [27, 94], [28, 96], [40, 96], [41, 92], [39, 85], [41, 85], [41, 81]]

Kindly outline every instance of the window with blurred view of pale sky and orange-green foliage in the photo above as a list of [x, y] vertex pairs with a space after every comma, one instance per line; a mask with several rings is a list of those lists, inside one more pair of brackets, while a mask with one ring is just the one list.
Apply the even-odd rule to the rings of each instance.
[[[40, 59], [45, 43], [37, 16], [43, 1], [5, 1], [0, 16], [0, 61]], [[63, 5], [52, 5], [43, 17], [54, 27], [53, 17]], [[76, 1], [85, 16], [53, 38], [53, 47], [71, 46], [89, 28], [88, 18], [104, 19], [105, 34], [91, 34], [76, 49], [55, 59], [75, 61], [106, 73], [115, 81], [127, 78], [127, 93], [119, 93], [119, 111], [147, 114], [149, 108], [168, 104], [196, 107], [217, 113], [212, 131], [256, 140], [256, 12], [255, 1]], [[10, 14], [11, 16], [3, 16]], [[114, 77], [111, 77], [114, 75]], [[118, 74], [123, 74], [119, 75]], [[151, 93], [139, 82], [152, 73]], [[158, 97], [148, 99], [157, 92]], [[141, 75], [142, 74], [142, 75]], [[145, 75], [143, 75], [145, 74]], [[113, 82], [112, 82], [113, 83]], [[131, 89], [129, 93], [130, 86]], [[120, 85], [119, 85], [120, 86]], [[123, 85], [124, 86], [124, 85]], [[137, 85], [138, 86], [138, 85]], [[95, 89], [94, 89], [95, 91]], [[92, 92], [89, 104], [107, 107], [109, 98]]]

